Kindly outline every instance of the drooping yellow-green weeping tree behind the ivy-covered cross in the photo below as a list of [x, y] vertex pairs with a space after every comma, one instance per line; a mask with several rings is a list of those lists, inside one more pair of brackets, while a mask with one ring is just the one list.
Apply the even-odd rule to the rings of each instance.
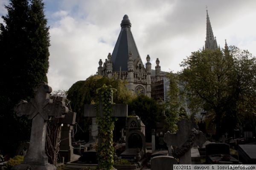
[[[96, 90], [102, 87], [103, 84], [111, 85], [116, 89], [113, 94], [113, 102], [115, 103], [127, 103], [133, 96], [131, 92], [126, 88], [126, 81], [113, 78], [102, 77], [101, 75], [92, 75], [85, 81], [77, 81], [67, 91], [67, 99], [70, 100], [70, 107], [76, 115], [76, 122], [79, 124], [81, 129], [85, 130], [88, 134], [88, 127], [91, 125], [90, 118], [84, 118], [84, 104], [93, 104], [98, 101]], [[79, 131], [76, 133], [75, 138], [87, 140], [84, 132]]]

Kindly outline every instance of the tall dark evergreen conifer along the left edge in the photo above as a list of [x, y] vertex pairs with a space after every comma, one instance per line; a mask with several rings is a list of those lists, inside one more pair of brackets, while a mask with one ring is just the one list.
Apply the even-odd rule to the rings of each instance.
[[40, 81], [47, 82], [49, 27], [41, 0], [10, 0], [5, 7], [5, 24], [0, 23], [0, 71], [4, 73], [0, 81], [0, 124], [7, 130], [0, 133], [4, 139], [0, 150], [13, 154], [18, 143], [30, 137], [30, 121], [26, 116], [17, 118], [13, 108], [19, 100], [33, 98], [33, 88]]

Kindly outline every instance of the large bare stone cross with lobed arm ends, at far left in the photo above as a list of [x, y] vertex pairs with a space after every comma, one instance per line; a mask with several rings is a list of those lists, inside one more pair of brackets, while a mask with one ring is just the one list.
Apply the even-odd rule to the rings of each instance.
[[32, 119], [32, 128], [30, 146], [24, 157], [24, 163], [15, 166], [14, 169], [56, 170], [57, 168], [54, 165], [48, 163], [48, 157], [45, 154], [47, 120], [51, 116], [64, 118], [68, 108], [65, 107], [65, 103], [62, 101], [52, 103], [52, 100], [49, 99], [52, 88], [47, 83], [42, 81], [34, 90], [35, 98], [32, 98], [29, 103], [22, 100], [15, 106], [18, 116], [29, 115], [29, 119]]

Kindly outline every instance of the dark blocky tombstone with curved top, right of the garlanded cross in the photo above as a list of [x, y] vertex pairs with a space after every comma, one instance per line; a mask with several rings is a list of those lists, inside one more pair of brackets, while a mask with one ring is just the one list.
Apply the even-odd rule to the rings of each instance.
[[230, 156], [230, 145], [225, 143], [210, 143], [205, 145], [206, 161], [208, 164], [240, 164], [236, 158]]

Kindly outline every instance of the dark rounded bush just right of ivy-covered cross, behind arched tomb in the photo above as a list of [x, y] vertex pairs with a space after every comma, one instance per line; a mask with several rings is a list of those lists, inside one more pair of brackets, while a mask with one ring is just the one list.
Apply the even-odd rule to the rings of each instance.
[[156, 123], [160, 121], [162, 107], [154, 99], [146, 95], [139, 95], [128, 103], [128, 113], [135, 111], [145, 124], [146, 141], [151, 141], [151, 129], [156, 128]]

